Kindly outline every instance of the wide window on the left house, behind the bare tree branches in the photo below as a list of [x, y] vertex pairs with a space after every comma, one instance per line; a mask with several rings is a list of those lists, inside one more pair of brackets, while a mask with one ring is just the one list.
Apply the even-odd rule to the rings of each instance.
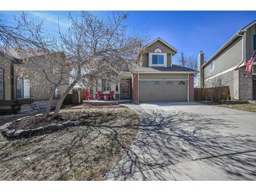
[[17, 99], [30, 98], [30, 81], [28, 78], [17, 78], [16, 97]]

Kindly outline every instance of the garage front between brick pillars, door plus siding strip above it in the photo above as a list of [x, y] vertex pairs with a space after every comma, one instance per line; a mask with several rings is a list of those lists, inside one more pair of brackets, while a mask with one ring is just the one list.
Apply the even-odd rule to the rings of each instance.
[[188, 74], [139, 74], [140, 102], [189, 101]]

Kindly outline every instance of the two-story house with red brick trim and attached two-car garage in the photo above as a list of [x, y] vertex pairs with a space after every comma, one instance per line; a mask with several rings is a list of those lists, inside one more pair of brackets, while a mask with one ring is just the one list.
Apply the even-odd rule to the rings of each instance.
[[157, 38], [142, 48], [133, 71], [123, 72], [116, 82], [97, 80], [90, 92], [95, 97], [97, 90], [114, 90], [116, 99], [134, 102], [192, 102], [196, 71], [173, 64], [176, 53], [173, 46]]

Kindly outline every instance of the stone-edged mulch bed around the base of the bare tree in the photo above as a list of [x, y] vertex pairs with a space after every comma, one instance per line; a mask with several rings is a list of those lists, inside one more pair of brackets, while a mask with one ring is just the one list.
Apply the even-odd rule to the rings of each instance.
[[65, 121], [83, 121], [91, 120], [102, 116], [100, 112], [81, 114], [79, 112], [72, 113], [60, 113], [58, 118], [53, 118], [52, 116], [29, 116], [27, 118], [22, 118], [20, 121], [14, 121], [14, 123], [9, 126], [9, 130], [29, 130], [36, 127], [43, 127], [52, 123], [61, 124]]

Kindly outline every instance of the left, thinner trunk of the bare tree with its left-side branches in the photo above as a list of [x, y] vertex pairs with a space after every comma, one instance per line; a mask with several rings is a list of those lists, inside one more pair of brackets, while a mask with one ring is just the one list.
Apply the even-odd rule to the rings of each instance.
[[[0, 49], [9, 57], [20, 58], [25, 64], [19, 73], [33, 71], [35, 84], [43, 85], [43, 90], [50, 90], [46, 116], [50, 113], [55, 90], [69, 83], [68, 61], [63, 54], [59, 42], [43, 32], [43, 22], [27, 20], [25, 13], [15, 16], [17, 26], [10, 27], [0, 21]], [[33, 70], [31, 70], [33, 68]], [[46, 81], [40, 81], [44, 76]], [[42, 92], [43, 94], [43, 92]]]

